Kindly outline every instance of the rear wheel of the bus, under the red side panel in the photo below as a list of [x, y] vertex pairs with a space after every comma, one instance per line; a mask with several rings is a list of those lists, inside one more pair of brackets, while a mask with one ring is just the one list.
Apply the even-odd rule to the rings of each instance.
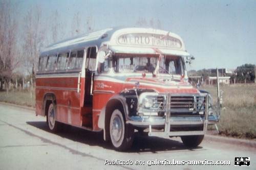
[[56, 121], [56, 108], [53, 103], [49, 105], [47, 120], [52, 132], [57, 133], [60, 130], [60, 123]]

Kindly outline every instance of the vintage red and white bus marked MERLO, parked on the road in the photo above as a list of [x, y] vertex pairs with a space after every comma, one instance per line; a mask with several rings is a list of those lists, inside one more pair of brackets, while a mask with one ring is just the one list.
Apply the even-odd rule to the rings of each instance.
[[135, 132], [197, 147], [219, 115], [211, 95], [188, 83], [191, 59], [178, 35], [156, 29], [110, 28], [54, 43], [39, 56], [36, 115], [52, 132], [103, 131], [120, 151]]

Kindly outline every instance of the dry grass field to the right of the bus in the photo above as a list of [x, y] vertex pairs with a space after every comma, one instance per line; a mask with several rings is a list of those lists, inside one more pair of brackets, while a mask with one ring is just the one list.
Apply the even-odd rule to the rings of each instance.
[[[217, 102], [217, 86], [205, 85]], [[221, 119], [217, 124], [220, 135], [256, 139], [256, 84], [220, 85], [222, 91]], [[215, 129], [209, 127], [209, 130]]]

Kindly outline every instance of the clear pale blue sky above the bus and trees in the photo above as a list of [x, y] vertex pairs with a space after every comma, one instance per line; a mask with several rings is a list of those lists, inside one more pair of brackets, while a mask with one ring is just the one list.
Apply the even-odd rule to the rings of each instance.
[[[2, 1], [2, 0], [1, 0]], [[116, 26], [135, 27], [139, 18], [160, 20], [161, 28], [182, 37], [188, 53], [195, 57], [187, 70], [210, 68], [236, 69], [256, 64], [256, 1], [177, 0], [17, 0], [20, 19], [30, 6], [39, 5], [42, 18], [58, 10], [59, 19], [71, 25], [79, 12], [81, 22], [90, 16], [93, 30]], [[68, 27], [70, 29], [71, 27]], [[81, 33], [86, 33], [82, 29]]]

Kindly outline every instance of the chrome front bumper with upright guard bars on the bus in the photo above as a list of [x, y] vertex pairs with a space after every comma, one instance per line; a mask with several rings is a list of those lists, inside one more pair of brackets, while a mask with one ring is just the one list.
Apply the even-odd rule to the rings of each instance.
[[[209, 96], [206, 94], [205, 97], [205, 113], [208, 113], [208, 102]], [[170, 103], [170, 94], [167, 95], [167, 105]], [[217, 115], [205, 116], [170, 116], [170, 107], [167, 106], [166, 117], [157, 116], [132, 116], [129, 117], [126, 123], [132, 124], [137, 127], [149, 128], [149, 136], [182, 136], [182, 135], [203, 135], [207, 131], [207, 125], [214, 125], [219, 121]], [[172, 131], [170, 128], [172, 126], [179, 127], [193, 127], [193, 126], [203, 126], [202, 131]], [[161, 127], [164, 131], [153, 132], [152, 128]]]

